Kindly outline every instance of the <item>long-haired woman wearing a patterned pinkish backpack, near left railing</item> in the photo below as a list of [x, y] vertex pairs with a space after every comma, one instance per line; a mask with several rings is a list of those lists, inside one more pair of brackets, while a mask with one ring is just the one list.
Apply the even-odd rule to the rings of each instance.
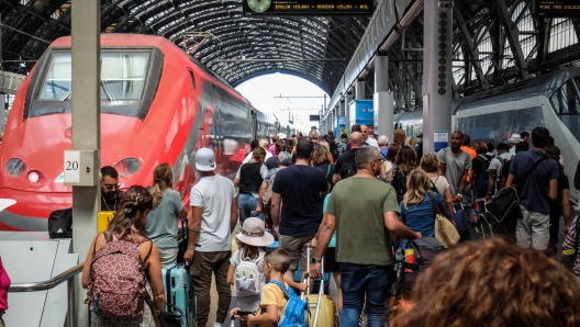
[[[87, 295], [89, 296], [87, 302], [94, 303], [94, 305], [91, 305], [91, 327], [156, 326], [148, 305], [143, 305], [142, 303], [141, 306], [137, 306], [137, 308], [141, 307], [141, 309], [137, 309], [136, 316], [131, 315], [131, 317], [127, 317], [126, 312], [114, 311], [115, 306], [127, 306], [126, 303], [105, 301], [105, 295], [111, 297], [111, 294], [114, 296], [116, 293], [107, 292], [105, 290], [100, 289], [103, 285], [101, 281], [108, 279], [111, 280], [115, 275], [122, 275], [123, 279], [116, 279], [119, 283], [108, 283], [105, 286], [119, 287], [120, 285], [126, 285], [127, 282], [134, 281], [138, 278], [140, 272], [144, 272], [145, 282], [143, 292], [145, 294], [143, 294], [140, 300], [145, 302], [147, 297], [150, 298], [153, 295], [153, 305], [156, 311], [165, 312], [166, 298], [161, 281], [159, 251], [157, 246], [147, 238], [145, 233], [145, 221], [149, 218], [147, 215], [152, 207], [153, 196], [145, 188], [140, 185], [129, 188], [129, 190], [123, 193], [119, 210], [113, 219], [109, 222], [107, 232], [99, 233], [92, 240], [87, 253], [87, 259], [85, 260], [85, 268], [82, 269], [82, 287], [88, 289]], [[124, 266], [120, 264], [118, 261], [114, 262], [118, 262], [119, 266], [104, 264], [108, 261], [99, 261], [118, 260], [118, 257], [107, 258], [107, 256], [112, 255], [119, 256], [119, 259], [125, 259], [127, 255], [121, 258], [122, 256], [120, 253], [122, 252], [113, 252], [111, 251], [111, 248], [105, 248], [102, 253], [99, 252], [109, 244], [111, 244], [111, 247], [115, 247], [116, 245], [124, 246], [123, 241], [134, 244], [138, 249], [141, 256], [141, 267], [138, 272], [136, 272], [136, 270], [131, 270], [129, 272], [124, 271]], [[127, 272], [127, 274], [123, 274], [120, 271]], [[145, 292], [145, 290], [147, 292]], [[133, 291], [133, 289], [130, 291]], [[126, 293], [122, 293], [121, 295], [123, 294]], [[100, 301], [101, 296], [103, 297], [101, 298], [102, 301]], [[103, 312], [107, 312], [107, 309], [109, 309], [108, 313], [115, 312], [119, 315], [104, 315]]]

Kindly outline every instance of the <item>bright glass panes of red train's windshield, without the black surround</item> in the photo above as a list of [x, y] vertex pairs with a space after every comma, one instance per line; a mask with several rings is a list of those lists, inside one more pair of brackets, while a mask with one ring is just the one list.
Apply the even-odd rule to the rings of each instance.
[[[143, 93], [148, 53], [101, 54], [101, 100], [138, 100]], [[71, 92], [71, 55], [55, 53], [48, 66], [38, 100], [69, 100]]]

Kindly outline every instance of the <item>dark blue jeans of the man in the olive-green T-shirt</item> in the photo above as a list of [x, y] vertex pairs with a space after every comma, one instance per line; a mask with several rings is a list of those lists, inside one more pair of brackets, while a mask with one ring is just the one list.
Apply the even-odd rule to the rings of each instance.
[[367, 326], [384, 326], [384, 303], [392, 266], [341, 263], [343, 313], [341, 326], [358, 326], [367, 295]]

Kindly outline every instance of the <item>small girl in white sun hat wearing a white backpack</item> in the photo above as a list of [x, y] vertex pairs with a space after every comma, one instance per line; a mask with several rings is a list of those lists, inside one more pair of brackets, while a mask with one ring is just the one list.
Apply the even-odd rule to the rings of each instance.
[[[230, 259], [227, 283], [234, 285], [231, 307], [243, 312], [256, 312], [259, 306], [259, 293], [266, 284], [264, 277], [264, 255], [266, 247], [274, 243], [274, 236], [266, 232], [264, 221], [249, 217], [236, 235], [238, 249]], [[242, 326], [247, 326], [241, 320]]]

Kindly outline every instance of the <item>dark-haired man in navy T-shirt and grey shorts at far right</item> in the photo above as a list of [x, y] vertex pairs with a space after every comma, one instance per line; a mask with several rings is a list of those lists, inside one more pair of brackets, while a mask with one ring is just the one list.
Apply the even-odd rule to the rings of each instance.
[[[532, 131], [534, 148], [515, 156], [505, 185], [516, 188], [520, 196], [522, 218], [517, 219], [517, 245], [540, 251], [547, 249], [549, 241], [550, 201], [558, 198], [558, 162], [544, 154], [548, 138], [549, 132], [545, 127]], [[521, 181], [526, 171], [532, 172], [527, 180]]]

